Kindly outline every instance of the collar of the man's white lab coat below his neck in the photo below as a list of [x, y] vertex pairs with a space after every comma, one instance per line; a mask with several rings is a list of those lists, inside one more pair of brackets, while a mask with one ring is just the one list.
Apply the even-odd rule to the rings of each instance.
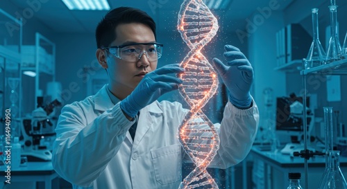
[[[111, 98], [108, 96], [107, 92], [107, 84], [103, 86], [94, 96], [94, 102], [95, 102], [95, 109], [99, 111], [106, 111], [114, 106], [112, 103]], [[116, 104], [120, 101], [118, 101]], [[154, 113], [154, 114], [162, 114], [162, 109], [159, 107], [159, 102], [155, 101], [151, 105], [148, 105], [145, 107], [149, 112]]]

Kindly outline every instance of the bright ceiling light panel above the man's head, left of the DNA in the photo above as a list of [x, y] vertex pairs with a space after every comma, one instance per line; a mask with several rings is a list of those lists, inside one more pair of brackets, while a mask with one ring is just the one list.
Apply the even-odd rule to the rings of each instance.
[[110, 10], [107, 0], [62, 0], [69, 10]]

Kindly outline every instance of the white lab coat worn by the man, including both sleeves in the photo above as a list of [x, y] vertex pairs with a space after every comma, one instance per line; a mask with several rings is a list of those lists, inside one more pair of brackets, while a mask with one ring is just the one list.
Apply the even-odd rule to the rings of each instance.
[[[74, 188], [178, 188], [185, 151], [177, 127], [187, 109], [178, 102], [155, 101], [141, 109], [135, 140], [119, 102], [112, 104], [103, 87], [95, 96], [66, 105], [56, 127], [53, 168]], [[221, 139], [212, 168], [228, 168], [251, 150], [259, 114], [226, 105], [223, 120], [215, 124]]]

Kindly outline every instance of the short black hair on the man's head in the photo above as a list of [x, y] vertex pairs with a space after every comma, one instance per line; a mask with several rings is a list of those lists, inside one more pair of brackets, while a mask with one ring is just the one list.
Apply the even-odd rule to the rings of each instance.
[[146, 12], [137, 8], [119, 7], [110, 10], [96, 27], [95, 37], [97, 48], [109, 46], [115, 39], [115, 28], [119, 24], [139, 23], [149, 26], [155, 33], [155, 22]]

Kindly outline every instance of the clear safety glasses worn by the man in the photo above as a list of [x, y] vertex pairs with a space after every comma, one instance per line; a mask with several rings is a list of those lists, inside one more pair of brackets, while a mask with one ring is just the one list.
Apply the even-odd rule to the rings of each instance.
[[136, 62], [146, 54], [149, 62], [153, 62], [162, 57], [162, 46], [159, 43], [137, 43], [121, 46], [109, 46], [101, 49], [107, 49], [112, 55], [126, 62]]

